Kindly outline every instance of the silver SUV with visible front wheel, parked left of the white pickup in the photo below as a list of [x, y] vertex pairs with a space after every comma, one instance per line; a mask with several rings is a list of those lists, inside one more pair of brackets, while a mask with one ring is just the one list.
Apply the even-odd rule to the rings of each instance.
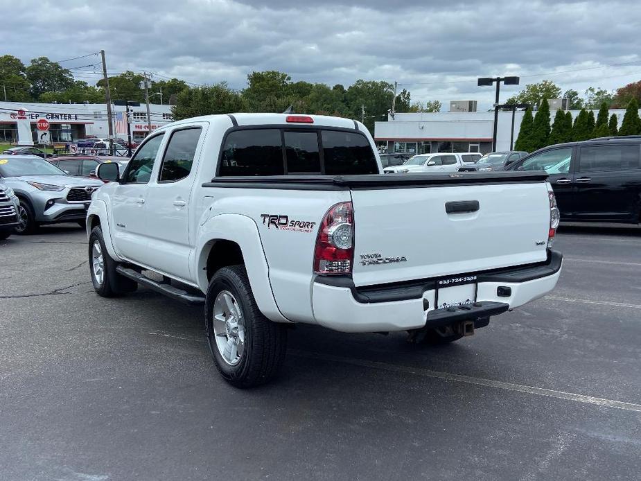
[[17, 234], [33, 232], [41, 224], [84, 225], [91, 195], [104, 185], [100, 180], [67, 175], [35, 155], [0, 155], [0, 182], [20, 200]]

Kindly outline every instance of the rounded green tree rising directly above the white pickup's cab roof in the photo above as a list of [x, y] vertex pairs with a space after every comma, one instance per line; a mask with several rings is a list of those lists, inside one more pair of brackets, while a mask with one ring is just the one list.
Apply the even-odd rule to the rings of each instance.
[[174, 119], [188, 119], [199, 115], [246, 112], [245, 99], [225, 82], [204, 87], [191, 87], [177, 95], [176, 105], [171, 108]]

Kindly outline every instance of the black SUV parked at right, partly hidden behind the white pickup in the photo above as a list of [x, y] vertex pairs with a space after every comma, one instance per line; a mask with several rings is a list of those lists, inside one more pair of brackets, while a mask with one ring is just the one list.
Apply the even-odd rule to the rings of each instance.
[[506, 170], [545, 170], [568, 222], [641, 222], [641, 138], [559, 143]]

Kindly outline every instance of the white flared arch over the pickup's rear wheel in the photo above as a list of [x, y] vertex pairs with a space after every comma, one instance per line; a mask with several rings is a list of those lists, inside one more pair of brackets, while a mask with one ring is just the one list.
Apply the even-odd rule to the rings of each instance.
[[196, 281], [202, 292], [207, 292], [207, 258], [213, 243], [218, 240], [232, 241], [240, 246], [245, 261], [249, 285], [256, 304], [265, 316], [275, 322], [290, 322], [279, 311], [270, 283], [270, 267], [265, 258], [258, 226], [252, 218], [240, 214], [225, 213], [209, 218], [200, 226], [194, 256]]

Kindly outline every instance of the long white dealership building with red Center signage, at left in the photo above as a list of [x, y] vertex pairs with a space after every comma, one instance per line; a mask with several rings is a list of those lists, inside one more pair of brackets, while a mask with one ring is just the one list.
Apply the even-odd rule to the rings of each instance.
[[[126, 139], [126, 123], [118, 123], [118, 112], [125, 107], [112, 105], [114, 134]], [[140, 140], [149, 133], [147, 107], [130, 107], [132, 139]], [[172, 120], [170, 105], [150, 105], [151, 128], [155, 130]], [[0, 102], [0, 142], [17, 143], [19, 121], [28, 121], [33, 140], [36, 139], [35, 124], [39, 119], [49, 121], [52, 142], [71, 142], [90, 135], [108, 137], [107, 104], [105, 103], [29, 103]], [[117, 129], [117, 130], [116, 130]], [[21, 141], [23, 139], [20, 139]]]

